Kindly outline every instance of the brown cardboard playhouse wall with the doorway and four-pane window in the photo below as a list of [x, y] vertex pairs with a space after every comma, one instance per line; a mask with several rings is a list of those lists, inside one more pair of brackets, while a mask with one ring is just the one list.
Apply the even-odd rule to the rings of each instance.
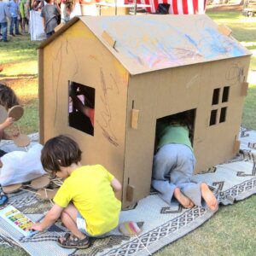
[[[156, 119], [196, 109], [195, 172], [206, 170], [235, 155], [233, 147], [241, 124], [244, 100], [241, 96], [241, 79], [247, 79], [248, 65], [249, 57], [241, 57], [131, 77], [124, 181], [128, 183], [129, 180], [135, 187], [135, 200], [148, 195], [150, 188]], [[228, 102], [222, 103], [224, 86], [230, 86], [230, 95]], [[219, 104], [212, 106], [215, 88], [220, 88]], [[137, 130], [131, 128], [132, 104], [133, 108], [139, 110]], [[209, 126], [212, 109], [223, 107], [227, 107], [226, 121]], [[126, 201], [125, 205], [129, 205], [129, 202]]]

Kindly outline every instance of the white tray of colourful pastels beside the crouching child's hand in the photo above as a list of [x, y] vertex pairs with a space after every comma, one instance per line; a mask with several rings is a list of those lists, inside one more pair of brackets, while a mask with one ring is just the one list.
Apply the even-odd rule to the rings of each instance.
[[3, 208], [0, 211], [0, 217], [14, 227], [15, 230], [18, 230], [23, 236], [29, 237], [38, 232], [30, 230], [33, 224], [32, 220], [13, 206]]

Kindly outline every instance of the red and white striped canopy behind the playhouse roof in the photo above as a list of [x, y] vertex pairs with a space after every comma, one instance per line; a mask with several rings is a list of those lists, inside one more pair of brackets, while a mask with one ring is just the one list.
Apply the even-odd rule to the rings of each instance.
[[207, 0], [137, 0], [137, 3], [150, 4], [148, 12], [155, 13], [159, 3], [170, 3], [169, 13], [172, 15], [204, 14]]

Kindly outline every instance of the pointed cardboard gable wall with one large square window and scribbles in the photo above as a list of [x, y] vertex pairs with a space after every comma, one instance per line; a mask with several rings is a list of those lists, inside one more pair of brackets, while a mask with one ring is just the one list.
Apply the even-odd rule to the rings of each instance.
[[[94, 137], [68, 126], [68, 80], [96, 90]], [[44, 48], [44, 142], [72, 135], [83, 164], [102, 164], [122, 182], [127, 84], [119, 61], [78, 21]]]

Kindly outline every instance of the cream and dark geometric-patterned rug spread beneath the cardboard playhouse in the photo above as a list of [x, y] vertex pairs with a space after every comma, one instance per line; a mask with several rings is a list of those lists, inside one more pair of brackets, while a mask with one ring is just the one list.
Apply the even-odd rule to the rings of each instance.
[[[36, 140], [37, 135], [32, 137]], [[241, 151], [236, 159], [195, 175], [195, 181], [208, 183], [219, 203], [224, 205], [256, 194], [256, 131], [241, 128]], [[9, 195], [9, 204], [34, 221], [43, 218], [50, 207], [49, 202], [38, 201], [36, 195], [26, 191]], [[131, 209], [121, 212], [120, 222], [132, 220], [143, 224], [143, 232], [139, 236], [124, 236], [118, 230], [113, 230], [111, 236], [92, 239], [91, 247], [87, 249], [64, 249], [58, 247], [55, 242], [66, 231], [61, 223], [54, 224], [44, 233], [25, 238], [0, 219], [0, 245], [22, 247], [27, 253], [37, 256], [53, 255], [52, 252], [60, 256], [150, 255], [195, 230], [213, 214], [202, 207], [184, 209], [178, 203], [169, 207], [156, 192], [152, 191]]]

